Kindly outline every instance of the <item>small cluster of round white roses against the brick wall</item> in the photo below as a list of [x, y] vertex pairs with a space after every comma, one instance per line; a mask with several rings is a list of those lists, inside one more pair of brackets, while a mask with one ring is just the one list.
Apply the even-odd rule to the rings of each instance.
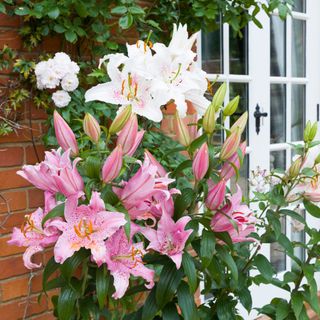
[[66, 53], [58, 52], [52, 59], [36, 65], [37, 88], [55, 89], [61, 85], [62, 90], [54, 92], [52, 100], [58, 108], [65, 107], [71, 100], [68, 92], [76, 90], [79, 85], [79, 70], [79, 66]]

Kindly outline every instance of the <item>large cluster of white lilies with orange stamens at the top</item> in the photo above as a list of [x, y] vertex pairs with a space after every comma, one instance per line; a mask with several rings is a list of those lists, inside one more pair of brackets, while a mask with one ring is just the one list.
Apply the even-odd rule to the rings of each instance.
[[[192, 46], [197, 34], [188, 36], [187, 26], [174, 25], [168, 46], [138, 41], [127, 45], [128, 54], [110, 54], [110, 82], [99, 84], [86, 92], [86, 101], [99, 100], [121, 106], [131, 105], [133, 112], [155, 122], [162, 120], [161, 106], [174, 102], [181, 117], [190, 101], [200, 115], [210, 102], [204, 97], [208, 83], [206, 73], [195, 63]], [[121, 109], [120, 108], [120, 109]]]

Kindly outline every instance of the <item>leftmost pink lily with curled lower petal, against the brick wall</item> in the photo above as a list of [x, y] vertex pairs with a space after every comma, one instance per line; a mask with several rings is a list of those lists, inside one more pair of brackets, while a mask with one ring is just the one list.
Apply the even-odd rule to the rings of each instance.
[[[34, 269], [40, 268], [41, 264], [36, 264], [31, 261], [32, 256], [44, 250], [45, 247], [55, 243], [60, 235], [57, 228], [50, 225], [49, 220], [42, 227], [42, 219], [47, 212], [53, 209], [56, 205], [52, 201], [51, 194], [45, 193], [45, 210], [38, 208], [31, 214], [25, 215], [25, 222], [21, 228], [13, 228], [11, 239], [8, 241], [10, 245], [18, 247], [27, 247], [23, 254], [23, 262], [26, 268]], [[59, 220], [56, 218], [55, 220]]]

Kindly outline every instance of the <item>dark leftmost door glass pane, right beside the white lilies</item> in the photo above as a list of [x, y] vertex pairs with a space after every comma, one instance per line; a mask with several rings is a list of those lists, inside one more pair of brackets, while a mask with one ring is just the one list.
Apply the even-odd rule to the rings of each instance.
[[223, 73], [223, 28], [201, 33], [202, 68], [208, 73]]

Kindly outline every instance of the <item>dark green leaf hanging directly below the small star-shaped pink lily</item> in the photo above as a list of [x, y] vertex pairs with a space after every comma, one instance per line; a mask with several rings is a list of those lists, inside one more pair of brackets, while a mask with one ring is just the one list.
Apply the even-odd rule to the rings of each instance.
[[164, 265], [156, 290], [156, 301], [160, 309], [162, 309], [167, 302], [171, 301], [179, 286], [182, 275], [182, 270], [177, 270], [173, 262], [168, 261], [168, 263]]

